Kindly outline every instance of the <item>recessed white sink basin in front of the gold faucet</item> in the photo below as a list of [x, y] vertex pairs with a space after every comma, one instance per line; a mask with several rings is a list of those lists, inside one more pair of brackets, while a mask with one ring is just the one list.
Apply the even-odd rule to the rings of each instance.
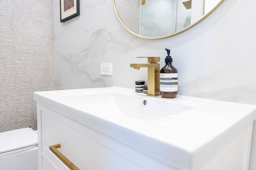
[[90, 113], [125, 114], [142, 120], [159, 119], [193, 108], [182, 103], [117, 92], [64, 96], [81, 103]]

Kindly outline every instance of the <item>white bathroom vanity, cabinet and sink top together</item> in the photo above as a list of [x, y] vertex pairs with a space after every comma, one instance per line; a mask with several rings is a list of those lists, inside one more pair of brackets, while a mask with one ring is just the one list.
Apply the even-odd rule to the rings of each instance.
[[[38, 102], [39, 149], [47, 160], [51, 154], [46, 145], [54, 143], [44, 139], [47, 134], [44, 123], [50, 126], [48, 122], [53, 117], [96, 143], [93, 146], [97, 147], [91, 150], [96, 155], [95, 165], [84, 165], [74, 155], [67, 156], [81, 169], [248, 170], [249, 167], [252, 126], [256, 119], [253, 105], [187, 96], [148, 97], [120, 87], [35, 92], [34, 99]], [[47, 117], [49, 121], [44, 122]], [[67, 123], [68, 120], [72, 123]], [[111, 168], [97, 168], [101, 160], [98, 157], [104, 159], [104, 167]]]

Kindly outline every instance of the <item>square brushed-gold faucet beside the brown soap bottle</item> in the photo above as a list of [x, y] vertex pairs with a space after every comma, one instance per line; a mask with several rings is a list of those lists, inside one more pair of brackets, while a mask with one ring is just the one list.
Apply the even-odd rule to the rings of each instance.
[[148, 58], [146, 64], [130, 64], [130, 67], [134, 69], [140, 69], [140, 67], [148, 67], [148, 96], [160, 95], [160, 57], [137, 57]]

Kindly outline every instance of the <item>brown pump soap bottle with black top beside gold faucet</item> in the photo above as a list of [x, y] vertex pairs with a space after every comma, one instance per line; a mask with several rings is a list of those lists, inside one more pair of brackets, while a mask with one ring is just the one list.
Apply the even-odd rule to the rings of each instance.
[[175, 98], [178, 93], [178, 70], [172, 65], [170, 49], [165, 49], [166, 65], [160, 70], [160, 94], [164, 98]]

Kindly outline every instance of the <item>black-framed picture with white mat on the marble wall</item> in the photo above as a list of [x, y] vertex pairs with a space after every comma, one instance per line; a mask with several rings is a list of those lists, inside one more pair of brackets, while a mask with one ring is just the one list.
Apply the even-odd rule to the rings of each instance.
[[60, 0], [60, 22], [79, 16], [79, 0]]

